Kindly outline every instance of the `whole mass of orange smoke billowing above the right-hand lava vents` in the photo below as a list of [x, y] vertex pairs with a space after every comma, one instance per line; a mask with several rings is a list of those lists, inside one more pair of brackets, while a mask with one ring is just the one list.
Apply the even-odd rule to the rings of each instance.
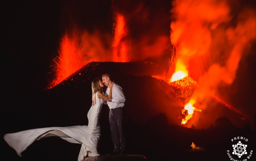
[[[255, 11], [244, 8], [237, 17], [231, 11], [227, 1], [173, 1], [170, 38], [177, 47], [175, 61], [184, 62], [189, 76], [196, 78], [200, 88], [191, 99], [196, 100], [197, 108], [202, 111], [209, 104], [207, 97], [219, 95], [220, 86], [233, 83], [239, 64], [256, 39]], [[191, 66], [195, 64], [199, 67]], [[189, 125], [202, 127], [200, 117], [212, 119], [204, 126], [217, 119], [210, 114], [199, 115]]]

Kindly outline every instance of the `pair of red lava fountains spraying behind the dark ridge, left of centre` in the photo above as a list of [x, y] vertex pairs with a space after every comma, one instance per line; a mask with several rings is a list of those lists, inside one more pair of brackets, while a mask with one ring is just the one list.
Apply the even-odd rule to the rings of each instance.
[[74, 31], [71, 31], [71, 36], [68, 36], [66, 32], [60, 42], [59, 56], [53, 59], [54, 69], [52, 73], [54, 78], [48, 85], [48, 89], [56, 86], [89, 62], [128, 62], [129, 47], [125, 40], [128, 30], [125, 27], [124, 16], [117, 14], [113, 26], [112, 52], [110, 49], [103, 47], [106, 46], [102, 43], [106, 39], [101, 40], [101, 37], [104, 37], [103, 34], [96, 32], [90, 35], [86, 31], [84, 31], [84, 34], [78, 34], [78, 31], [74, 29]]

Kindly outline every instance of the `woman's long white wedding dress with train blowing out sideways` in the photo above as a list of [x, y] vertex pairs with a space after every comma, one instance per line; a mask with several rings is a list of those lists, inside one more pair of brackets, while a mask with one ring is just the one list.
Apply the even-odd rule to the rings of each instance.
[[45, 138], [56, 136], [71, 143], [80, 143], [82, 147], [78, 156], [78, 161], [82, 161], [88, 151], [98, 153], [97, 147], [101, 129], [99, 126], [99, 115], [104, 103], [103, 99], [98, 98], [96, 93], [96, 104], [92, 105], [88, 111], [88, 126], [69, 126], [69, 127], [46, 127], [20, 131], [17, 133], [5, 134], [4, 140], [21, 157], [21, 153], [33, 142]]

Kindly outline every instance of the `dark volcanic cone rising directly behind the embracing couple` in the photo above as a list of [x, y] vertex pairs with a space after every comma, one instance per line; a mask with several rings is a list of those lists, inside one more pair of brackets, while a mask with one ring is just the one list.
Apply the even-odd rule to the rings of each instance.
[[151, 77], [162, 72], [163, 69], [150, 62], [91, 62], [47, 93], [55, 103], [60, 99], [57, 102], [62, 104], [59, 106], [61, 110], [69, 111], [69, 107], [72, 107], [73, 110], [67, 113], [84, 119], [83, 116], [87, 114], [86, 111], [91, 105], [91, 81], [95, 77], [109, 73], [123, 88], [127, 99], [125, 103], [127, 119], [142, 123], [150, 116], [161, 112], [168, 113], [172, 108], [178, 108], [176, 114], [178, 116], [181, 106], [165, 94], [170, 86], [162, 80]]

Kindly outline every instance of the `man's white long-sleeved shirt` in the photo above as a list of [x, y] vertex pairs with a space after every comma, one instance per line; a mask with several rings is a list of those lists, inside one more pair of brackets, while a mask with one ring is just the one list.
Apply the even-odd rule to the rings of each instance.
[[[105, 93], [106, 96], [109, 95], [109, 86]], [[124, 107], [125, 96], [123, 89], [118, 85], [114, 84], [112, 88], [112, 102], [104, 101], [105, 104], [108, 104], [109, 109]]]

